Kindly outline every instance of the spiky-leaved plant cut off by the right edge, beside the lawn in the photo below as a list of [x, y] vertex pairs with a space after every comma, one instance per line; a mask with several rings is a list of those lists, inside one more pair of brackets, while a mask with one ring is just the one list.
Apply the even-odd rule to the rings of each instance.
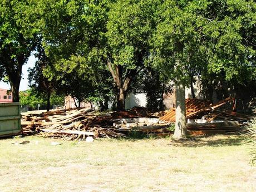
[[250, 163], [254, 165], [256, 163], [256, 117], [249, 122], [247, 129], [248, 133], [246, 136], [248, 144], [250, 145], [249, 154], [252, 157]]

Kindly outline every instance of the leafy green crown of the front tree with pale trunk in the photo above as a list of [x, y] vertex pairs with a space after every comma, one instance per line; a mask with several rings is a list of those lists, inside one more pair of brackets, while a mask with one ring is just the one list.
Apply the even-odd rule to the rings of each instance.
[[[171, 80], [178, 76], [184, 82], [191, 73], [200, 78], [221, 74], [226, 81], [253, 80], [255, 5], [253, 1], [165, 1], [152, 38], [152, 66]], [[250, 72], [251, 76], [244, 76]]]

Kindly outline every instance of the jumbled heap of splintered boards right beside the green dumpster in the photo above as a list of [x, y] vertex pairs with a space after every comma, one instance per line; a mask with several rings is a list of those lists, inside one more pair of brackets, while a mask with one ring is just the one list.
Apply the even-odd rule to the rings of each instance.
[[96, 116], [91, 109], [81, 109], [27, 115], [22, 118], [21, 125], [23, 135], [36, 134], [63, 140], [85, 139], [87, 136], [125, 137], [111, 128], [112, 122], [108, 115]]

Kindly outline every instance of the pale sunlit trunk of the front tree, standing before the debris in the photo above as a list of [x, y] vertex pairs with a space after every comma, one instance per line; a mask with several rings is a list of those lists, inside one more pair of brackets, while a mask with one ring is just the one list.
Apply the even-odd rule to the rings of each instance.
[[175, 131], [173, 138], [175, 140], [186, 139], [186, 106], [185, 106], [185, 87], [182, 83], [175, 84]]

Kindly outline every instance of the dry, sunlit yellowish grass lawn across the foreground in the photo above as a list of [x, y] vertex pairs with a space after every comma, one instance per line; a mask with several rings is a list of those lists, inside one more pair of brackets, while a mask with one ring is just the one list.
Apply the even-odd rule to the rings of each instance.
[[[29, 144], [11, 145], [24, 140]], [[25, 137], [0, 140], [0, 154], [1, 192], [256, 191], [256, 167], [241, 136], [182, 143]]]

